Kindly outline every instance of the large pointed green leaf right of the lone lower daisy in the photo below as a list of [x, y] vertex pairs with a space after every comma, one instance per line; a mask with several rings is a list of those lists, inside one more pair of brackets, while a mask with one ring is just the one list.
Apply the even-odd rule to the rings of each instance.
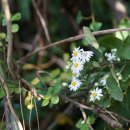
[[107, 88], [108, 93], [111, 95], [112, 98], [118, 101], [123, 100], [123, 93], [120, 88], [120, 84], [117, 82], [117, 80], [113, 77], [111, 73], [107, 79]]

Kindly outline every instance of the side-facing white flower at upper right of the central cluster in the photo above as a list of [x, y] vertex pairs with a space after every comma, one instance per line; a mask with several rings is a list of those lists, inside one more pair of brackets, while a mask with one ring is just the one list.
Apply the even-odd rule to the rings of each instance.
[[82, 55], [81, 61], [82, 61], [83, 63], [89, 62], [90, 59], [91, 59], [91, 57], [93, 56], [93, 54], [94, 54], [94, 53], [93, 53], [92, 51], [83, 51], [83, 52], [81, 52], [81, 55]]

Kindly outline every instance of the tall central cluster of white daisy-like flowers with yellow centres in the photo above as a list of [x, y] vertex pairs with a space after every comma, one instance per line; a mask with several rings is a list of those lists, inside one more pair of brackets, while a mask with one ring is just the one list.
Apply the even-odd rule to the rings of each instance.
[[74, 48], [71, 58], [72, 81], [69, 85], [70, 90], [76, 91], [82, 85], [82, 82], [78, 77], [83, 70], [84, 64], [89, 62], [92, 56], [92, 51], [84, 51], [83, 49], [80, 49], [80, 47]]

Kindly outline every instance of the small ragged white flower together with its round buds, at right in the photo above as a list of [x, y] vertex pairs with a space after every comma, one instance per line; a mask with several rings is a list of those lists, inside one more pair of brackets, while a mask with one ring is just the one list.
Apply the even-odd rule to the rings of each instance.
[[117, 57], [117, 49], [111, 49], [110, 53], [105, 53], [107, 61], [113, 63], [114, 61], [120, 61], [120, 58]]

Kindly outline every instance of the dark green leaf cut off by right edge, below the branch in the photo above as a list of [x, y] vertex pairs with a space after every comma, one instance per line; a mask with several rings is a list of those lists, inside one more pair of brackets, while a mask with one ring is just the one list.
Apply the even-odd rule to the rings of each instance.
[[130, 36], [123, 42], [122, 58], [130, 60]]

